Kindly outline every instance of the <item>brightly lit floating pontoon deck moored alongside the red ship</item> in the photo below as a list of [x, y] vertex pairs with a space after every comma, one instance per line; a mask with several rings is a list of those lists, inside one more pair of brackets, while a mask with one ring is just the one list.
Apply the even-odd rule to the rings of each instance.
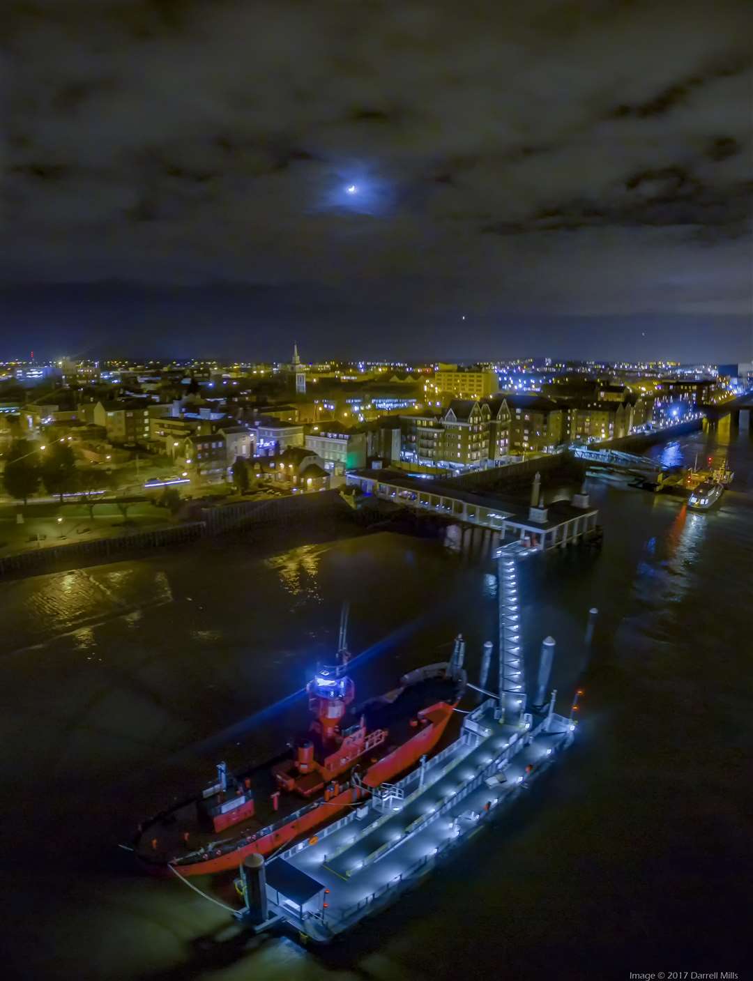
[[[460, 738], [427, 763], [423, 785], [416, 770], [395, 785], [402, 799], [369, 800], [365, 816], [354, 807], [315, 844], [283, 852], [282, 859], [328, 890], [326, 908], [298, 916], [271, 903], [272, 911], [319, 941], [350, 928], [471, 837], [572, 742], [570, 720], [562, 716], [526, 716], [514, 727], [495, 721], [494, 706], [488, 699], [467, 715]], [[497, 775], [501, 782], [490, 788]]]

